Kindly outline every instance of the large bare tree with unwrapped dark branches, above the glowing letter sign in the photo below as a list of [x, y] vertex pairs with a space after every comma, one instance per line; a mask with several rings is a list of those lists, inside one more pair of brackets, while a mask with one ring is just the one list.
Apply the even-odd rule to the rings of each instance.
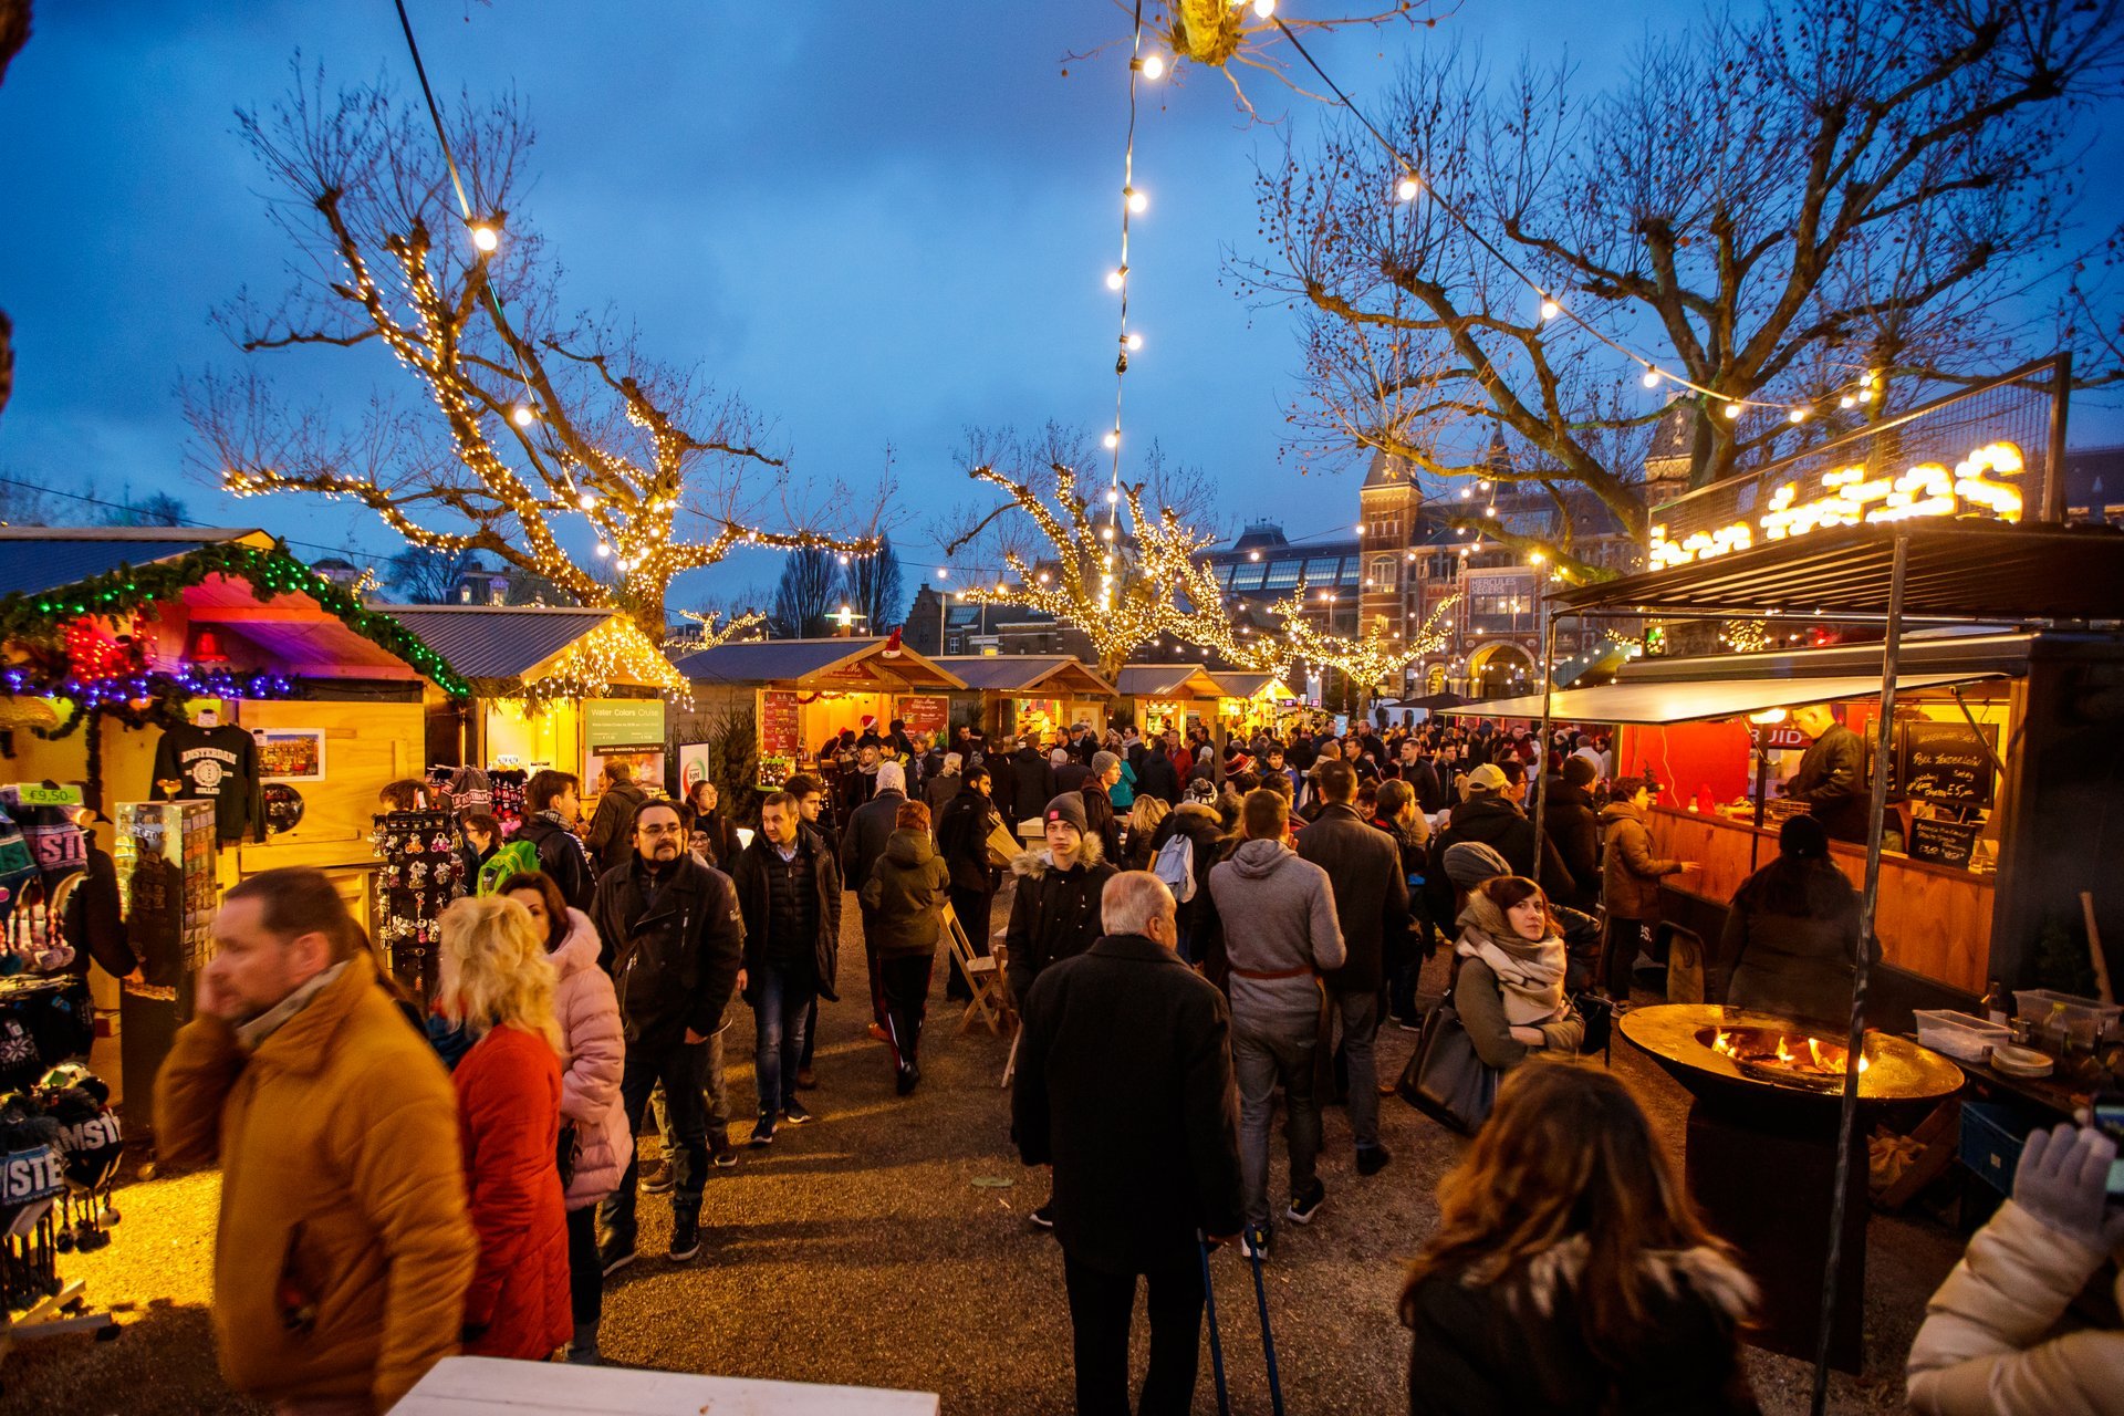
[[1534, 452], [1506, 480], [1591, 488], [1642, 535], [1614, 439], [1661, 410], [1593, 331], [1708, 391], [1695, 484], [2048, 352], [2028, 295], [2075, 263], [2073, 138], [2120, 62], [2118, 0], [1718, 11], [1595, 96], [1446, 51], [1381, 115], [1410, 166], [1355, 123], [1285, 153], [1260, 176], [1272, 253], [1236, 270], [1306, 312], [1315, 448], [1487, 478], [1468, 427], [1495, 422]]

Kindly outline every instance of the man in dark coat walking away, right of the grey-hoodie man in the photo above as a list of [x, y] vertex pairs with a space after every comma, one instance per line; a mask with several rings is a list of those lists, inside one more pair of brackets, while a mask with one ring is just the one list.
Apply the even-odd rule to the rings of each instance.
[[[1334, 913], [1342, 926], [1342, 968], [1330, 970], [1328, 1006], [1342, 1019], [1342, 1057], [1349, 1064], [1349, 1129], [1357, 1136], [1357, 1174], [1370, 1176], [1393, 1159], [1378, 1144], [1378, 1040], [1385, 955], [1408, 936], [1408, 877], [1393, 836], [1357, 815], [1357, 773], [1349, 762], [1313, 769], [1323, 807], [1298, 832], [1298, 858], [1311, 860], [1334, 883]], [[1328, 1038], [1328, 1025], [1321, 1028]], [[1321, 1066], [1328, 1066], [1325, 1047]]]

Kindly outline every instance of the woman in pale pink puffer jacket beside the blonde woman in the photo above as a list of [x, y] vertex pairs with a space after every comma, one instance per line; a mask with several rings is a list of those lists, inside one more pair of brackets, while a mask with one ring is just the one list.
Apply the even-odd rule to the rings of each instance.
[[567, 1287], [576, 1335], [571, 1363], [597, 1361], [597, 1323], [605, 1306], [605, 1270], [597, 1259], [597, 1202], [620, 1187], [635, 1138], [620, 1106], [627, 1042], [612, 977], [597, 966], [597, 926], [569, 909], [561, 885], [539, 870], [508, 877], [501, 894], [531, 911], [546, 932], [546, 953], [559, 983], [552, 1011], [561, 1023], [561, 1121], [576, 1127], [576, 1178], [567, 1185]]

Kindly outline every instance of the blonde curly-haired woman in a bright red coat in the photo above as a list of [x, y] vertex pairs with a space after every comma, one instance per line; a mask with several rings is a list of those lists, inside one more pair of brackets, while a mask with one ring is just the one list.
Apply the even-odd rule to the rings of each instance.
[[472, 1047], [457, 1061], [457, 1129], [480, 1261], [465, 1293], [465, 1352], [544, 1361], [569, 1340], [561, 1202], [561, 1030], [546, 938], [516, 900], [442, 913], [438, 1006]]

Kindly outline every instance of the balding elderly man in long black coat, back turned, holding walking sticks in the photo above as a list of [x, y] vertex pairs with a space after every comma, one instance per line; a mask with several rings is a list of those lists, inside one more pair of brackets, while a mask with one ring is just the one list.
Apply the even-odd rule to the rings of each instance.
[[[1240, 1225], [1232, 1015], [1175, 953], [1172, 896], [1155, 875], [1115, 875], [1102, 913], [1107, 934], [1045, 968], [1024, 1002], [1011, 1134], [1028, 1165], [1054, 1165], [1077, 1410], [1179, 1416], [1202, 1346], [1198, 1236]], [[1151, 1361], [1130, 1408], [1138, 1274]]]

